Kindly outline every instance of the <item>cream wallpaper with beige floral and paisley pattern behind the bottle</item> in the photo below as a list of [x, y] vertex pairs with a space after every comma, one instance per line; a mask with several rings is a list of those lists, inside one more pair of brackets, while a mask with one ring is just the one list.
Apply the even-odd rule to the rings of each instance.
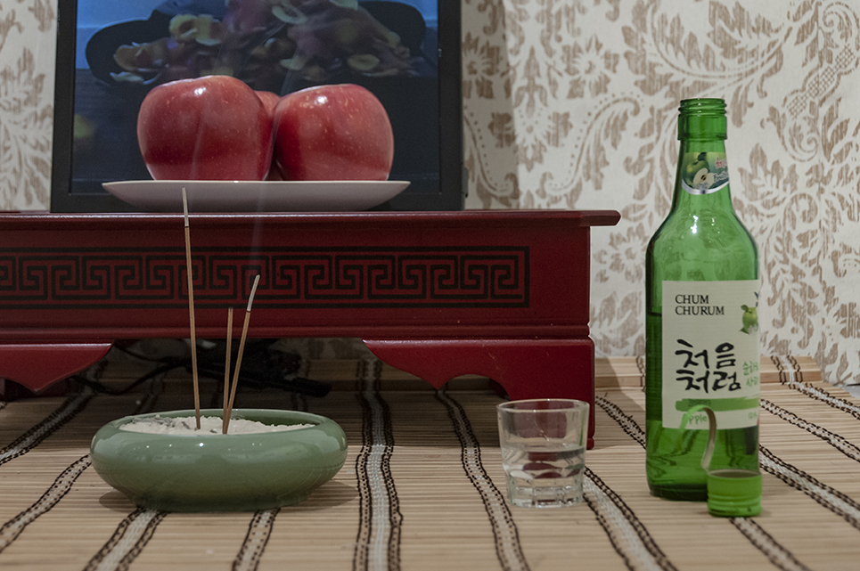
[[[467, 208], [623, 215], [593, 232], [598, 355], [644, 353], [644, 248], [668, 211], [678, 102], [723, 97], [733, 200], [761, 252], [763, 353], [860, 383], [860, 3], [462, 7]], [[55, 20], [51, 2], [0, 0], [0, 208], [48, 205]]]

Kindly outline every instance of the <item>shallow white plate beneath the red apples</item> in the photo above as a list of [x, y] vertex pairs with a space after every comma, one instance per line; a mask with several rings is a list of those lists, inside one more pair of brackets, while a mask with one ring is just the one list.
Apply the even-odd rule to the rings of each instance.
[[102, 186], [151, 212], [348, 212], [379, 206], [407, 181], [121, 181]]

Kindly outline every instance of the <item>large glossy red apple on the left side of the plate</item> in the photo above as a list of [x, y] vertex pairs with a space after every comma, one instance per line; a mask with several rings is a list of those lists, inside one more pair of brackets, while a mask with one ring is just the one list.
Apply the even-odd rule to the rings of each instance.
[[235, 77], [181, 79], [143, 99], [137, 142], [156, 180], [258, 181], [272, 162], [272, 118]]

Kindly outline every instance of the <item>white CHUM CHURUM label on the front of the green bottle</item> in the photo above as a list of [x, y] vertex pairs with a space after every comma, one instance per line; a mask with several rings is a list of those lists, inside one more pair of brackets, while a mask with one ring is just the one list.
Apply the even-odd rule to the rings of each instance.
[[[717, 428], [758, 424], [758, 280], [663, 281], [663, 426], [705, 404]], [[700, 413], [687, 428], [708, 429]]]

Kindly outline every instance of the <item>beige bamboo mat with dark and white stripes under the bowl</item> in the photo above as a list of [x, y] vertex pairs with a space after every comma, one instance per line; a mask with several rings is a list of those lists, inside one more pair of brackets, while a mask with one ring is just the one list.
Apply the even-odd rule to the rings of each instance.
[[[145, 369], [107, 363], [106, 386]], [[373, 360], [305, 363], [323, 398], [242, 390], [237, 406], [336, 420], [347, 462], [307, 502], [257, 513], [136, 510], [89, 464], [105, 422], [189, 408], [184, 371], [121, 396], [81, 389], [0, 409], [0, 569], [857, 569], [860, 401], [811, 359], [762, 362], [762, 514], [713, 518], [644, 476], [643, 363], [598, 360], [586, 502], [511, 508], [487, 379], [445, 390]], [[204, 406], [220, 395], [201, 383]]]

